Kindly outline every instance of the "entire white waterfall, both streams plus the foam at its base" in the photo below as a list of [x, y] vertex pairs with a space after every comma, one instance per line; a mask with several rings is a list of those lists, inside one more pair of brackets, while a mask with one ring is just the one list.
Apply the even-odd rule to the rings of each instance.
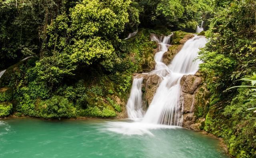
[[[183, 107], [180, 103], [181, 89], [180, 79], [185, 74], [195, 74], [200, 60], [195, 60], [200, 48], [204, 47], [207, 40], [204, 36], [195, 36], [188, 40], [183, 48], [176, 54], [170, 65], [162, 62], [164, 52], [170, 46], [170, 37], [159, 40], [153, 36], [152, 40], [159, 43], [160, 51], [156, 53], [155, 70], [150, 73], [162, 77], [151, 104], [142, 120], [136, 122], [109, 122], [107, 130], [121, 134], [150, 134], [149, 130], [157, 128], [179, 128], [182, 126]], [[161, 42], [162, 41], [162, 42]], [[129, 118], [141, 118], [143, 116], [141, 83], [143, 78], [134, 78], [127, 111]], [[192, 106], [192, 105], [191, 105]], [[169, 126], [174, 125], [174, 126]]]

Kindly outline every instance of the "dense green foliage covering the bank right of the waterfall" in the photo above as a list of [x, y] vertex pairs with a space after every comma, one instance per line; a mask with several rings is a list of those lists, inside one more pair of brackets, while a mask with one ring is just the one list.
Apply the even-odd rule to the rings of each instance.
[[[250, 95], [254, 91], [246, 88], [254, 87], [244, 82], [254, 84], [254, 77], [235, 81], [256, 71], [256, 2], [216, 0], [213, 4], [214, 18], [206, 32], [210, 39], [200, 52], [204, 61], [200, 70], [207, 74], [211, 93], [204, 129], [224, 138], [232, 156], [255, 157], [255, 113], [247, 109], [254, 108], [256, 102], [254, 94]], [[240, 88], [230, 89], [232, 86]], [[244, 102], [248, 99], [252, 101]]]

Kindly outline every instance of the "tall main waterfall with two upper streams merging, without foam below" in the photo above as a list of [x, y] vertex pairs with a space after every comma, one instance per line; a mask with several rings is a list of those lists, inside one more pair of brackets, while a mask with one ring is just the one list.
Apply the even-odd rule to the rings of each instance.
[[206, 42], [206, 38], [203, 36], [195, 36], [188, 40], [168, 66], [161, 62], [162, 54], [167, 50], [168, 43], [165, 43], [165, 40], [160, 43], [161, 49], [156, 56], [161, 56], [161, 59], [160, 57], [155, 58], [158, 66], [151, 73], [158, 74], [163, 80], [142, 122], [182, 126], [183, 108], [180, 103], [180, 79], [184, 74], [195, 74], [198, 71], [201, 61], [194, 61], [194, 59]]

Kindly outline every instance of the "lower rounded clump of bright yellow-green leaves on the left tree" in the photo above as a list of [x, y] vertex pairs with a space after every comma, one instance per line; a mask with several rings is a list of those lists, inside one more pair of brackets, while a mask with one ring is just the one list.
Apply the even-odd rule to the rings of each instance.
[[104, 60], [110, 58], [114, 52], [114, 48], [110, 42], [101, 40], [100, 37], [95, 37], [88, 40], [77, 40], [72, 46], [72, 61], [92, 64], [96, 60]]

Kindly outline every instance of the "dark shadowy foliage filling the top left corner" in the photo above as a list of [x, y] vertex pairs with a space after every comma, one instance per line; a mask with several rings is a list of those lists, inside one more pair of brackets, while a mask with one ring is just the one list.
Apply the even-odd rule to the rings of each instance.
[[71, 0], [0, 0], [0, 69], [23, 56], [42, 53], [46, 26], [59, 12], [68, 11]]

